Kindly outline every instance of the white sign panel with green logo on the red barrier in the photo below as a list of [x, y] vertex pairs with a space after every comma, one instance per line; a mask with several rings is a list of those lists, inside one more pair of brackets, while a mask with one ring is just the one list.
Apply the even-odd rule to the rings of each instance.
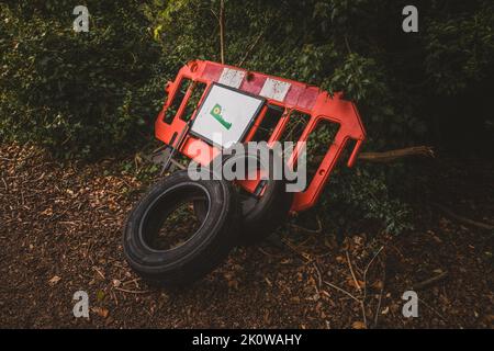
[[265, 100], [213, 84], [191, 133], [224, 148], [242, 141]]

